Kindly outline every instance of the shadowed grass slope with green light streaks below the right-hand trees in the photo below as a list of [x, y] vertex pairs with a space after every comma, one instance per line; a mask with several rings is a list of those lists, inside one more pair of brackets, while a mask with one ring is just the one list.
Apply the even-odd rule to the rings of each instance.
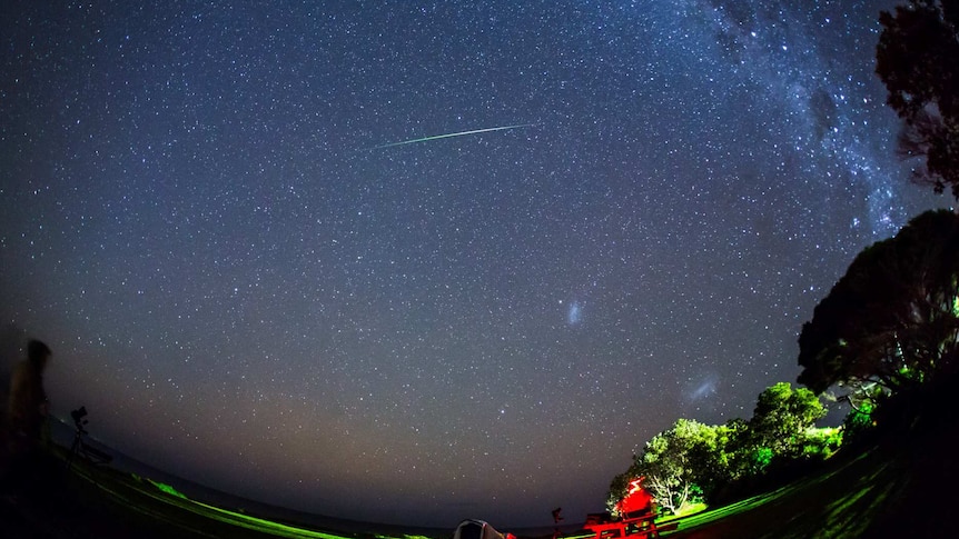
[[813, 477], [678, 521], [670, 539], [946, 538], [959, 493], [959, 420], [937, 410]]

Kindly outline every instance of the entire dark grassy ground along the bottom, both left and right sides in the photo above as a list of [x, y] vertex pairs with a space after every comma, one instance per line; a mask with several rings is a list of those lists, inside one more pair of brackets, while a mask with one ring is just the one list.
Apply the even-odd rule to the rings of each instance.
[[[888, 432], [856, 457], [837, 458], [814, 477], [732, 506], [674, 520], [670, 539], [956, 537], [950, 511], [959, 462], [956, 421]], [[0, 536], [60, 538], [385, 539], [386, 529], [308, 528], [190, 500], [109, 468], [41, 463], [39, 476], [6, 489]], [[943, 488], [946, 490], [943, 490]], [[663, 520], [661, 523], [669, 523]], [[453, 530], [428, 533], [448, 539]], [[567, 536], [589, 537], [589, 533]]]

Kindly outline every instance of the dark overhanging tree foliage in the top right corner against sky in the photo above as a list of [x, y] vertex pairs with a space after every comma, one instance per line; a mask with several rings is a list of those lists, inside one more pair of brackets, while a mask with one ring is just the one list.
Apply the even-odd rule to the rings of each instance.
[[879, 22], [876, 72], [906, 121], [899, 151], [925, 156], [914, 179], [959, 199], [959, 1], [910, 0]]

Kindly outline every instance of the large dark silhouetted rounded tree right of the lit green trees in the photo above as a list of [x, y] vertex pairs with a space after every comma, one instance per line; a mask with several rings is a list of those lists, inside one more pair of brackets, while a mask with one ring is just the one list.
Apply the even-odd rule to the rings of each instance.
[[799, 382], [920, 383], [956, 363], [959, 217], [927, 211], [866, 248], [815, 307], [799, 337]]

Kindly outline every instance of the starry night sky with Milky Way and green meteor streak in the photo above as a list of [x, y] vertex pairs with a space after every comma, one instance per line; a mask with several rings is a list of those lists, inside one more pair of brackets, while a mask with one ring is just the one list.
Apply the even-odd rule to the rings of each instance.
[[583, 519], [950, 202], [893, 153], [893, 4], [6, 2], [4, 333], [55, 413], [228, 492]]

